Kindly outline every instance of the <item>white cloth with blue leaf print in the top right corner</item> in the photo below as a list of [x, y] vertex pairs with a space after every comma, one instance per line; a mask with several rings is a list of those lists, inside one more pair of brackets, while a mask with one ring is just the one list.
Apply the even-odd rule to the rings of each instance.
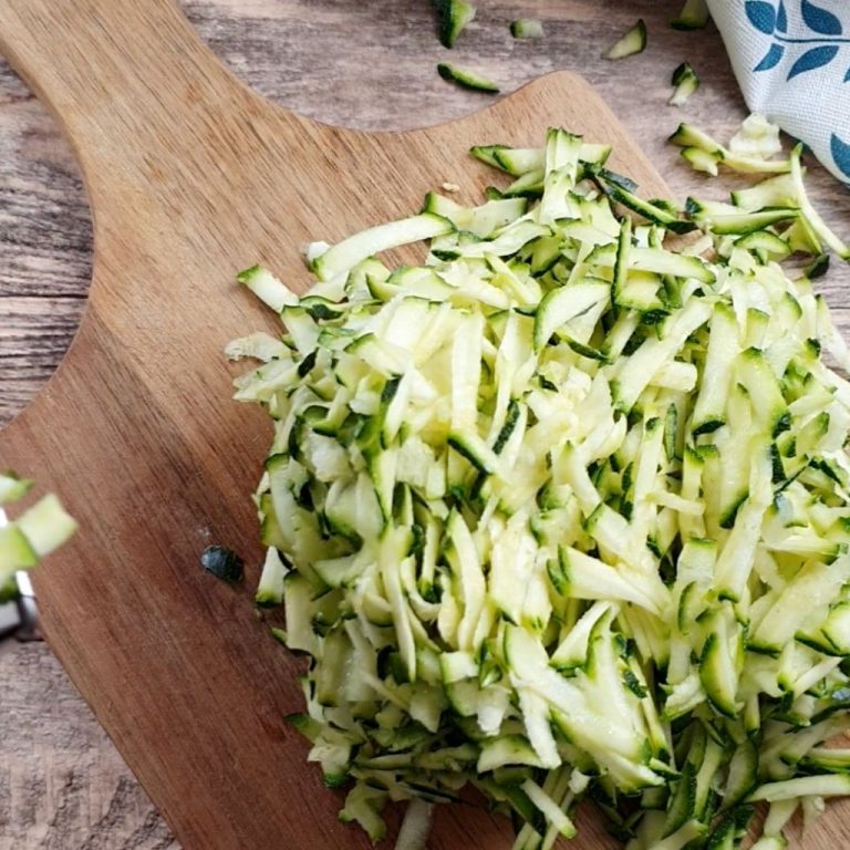
[[850, 0], [708, 0], [751, 112], [850, 185]]

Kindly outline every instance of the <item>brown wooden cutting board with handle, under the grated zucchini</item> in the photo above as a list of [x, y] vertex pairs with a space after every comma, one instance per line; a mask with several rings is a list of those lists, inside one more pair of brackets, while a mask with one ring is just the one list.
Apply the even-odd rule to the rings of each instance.
[[[82, 526], [38, 576], [51, 645], [186, 850], [365, 848], [282, 722], [301, 706], [298, 665], [252, 614], [250, 494], [270, 429], [229, 401], [238, 370], [221, 349], [273, 324], [234, 274], [261, 260], [303, 287], [304, 241], [407, 215], [444, 182], [473, 201], [493, 175], [471, 144], [540, 144], [550, 125], [613, 143], [645, 193], [663, 183], [568, 74], [459, 122], [379, 135], [253, 95], [168, 0], [4, 0], [0, 48], [64, 128], [94, 218], [76, 340], [0, 434], [0, 466], [38, 471]], [[203, 572], [209, 543], [243, 554], [245, 588]], [[614, 847], [584, 829], [588, 850]], [[429, 846], [510, 838], [464, 807], [440, 810]]]

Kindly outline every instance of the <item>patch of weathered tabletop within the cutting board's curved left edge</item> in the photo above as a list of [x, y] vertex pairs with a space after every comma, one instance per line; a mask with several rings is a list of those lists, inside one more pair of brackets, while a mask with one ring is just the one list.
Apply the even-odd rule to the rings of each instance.
[[68, 143], [2, 60], [0, 118], [2, 426], [48, 382], [80, 325], [92, 277], [92, 222]]

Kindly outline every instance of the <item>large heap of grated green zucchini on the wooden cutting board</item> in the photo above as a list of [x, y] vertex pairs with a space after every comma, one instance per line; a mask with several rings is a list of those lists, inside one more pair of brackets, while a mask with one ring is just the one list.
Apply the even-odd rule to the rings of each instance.
[[240, 276], [286, 325], [228, 354], [274, 423], [257, 601], [309, 659], [291, 721], [372, 840], [413, 801], [403, 850], [465, 786], [515, 850], [581, 800], [630, 850], [739, 847], [766, 801], [784, 848], [850, 794], [850, 359], [779, 261], [847, 249], [799, 148], [687, 209], [561, 129], [474, 153], [514, 178], [481, 206], [309, 246], [302, 297]]

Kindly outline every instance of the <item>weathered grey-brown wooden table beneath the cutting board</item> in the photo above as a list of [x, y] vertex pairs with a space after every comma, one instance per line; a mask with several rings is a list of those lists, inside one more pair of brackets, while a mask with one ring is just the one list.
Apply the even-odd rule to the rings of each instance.
[[[450, 54], [434, 38], [427, 0], [196, 0], [185, 9], [218, 55], [256, 90], [304, 115], [348, 126], [413, 127], [486, 104], [486, 95], [437, 77], [435, 64], [444, 59], [479, 69], [505, 92], [548, 71], [578, 71], [657, 163], [675, 197], [722, 196], [722, 183], [706, 184], [665, 144], [683, 117], [727, 138], [746, 114], [713, 27], [672, 30], [667, 22], [677, 0], [478, 6], [478, 18]], [[508, 24], [520, 13], [540, 18], [546, 38], [512, 40]], [[601, 51], [639, 15], [650, 29], [646, 52], [618, 63], [602, 60]], [[680, 112], [666, 99], [670, 74], [685, 59], [703, 85]], [[498, 139], [470, 143], [490, 141]], [[850, 194], [819, 167], [810, 184], [826, 218], [850, 235]], [[92, 246], [73, 155], [1, 61], [0, 221], [3, 424], [46, 382], [71, 342], [85, 309]], [[822, 283], [846, 330], [848, 283], [847, 267], [833, 268]], [[177, 848], [43, 644], [0, 656], [0, 850]]]

